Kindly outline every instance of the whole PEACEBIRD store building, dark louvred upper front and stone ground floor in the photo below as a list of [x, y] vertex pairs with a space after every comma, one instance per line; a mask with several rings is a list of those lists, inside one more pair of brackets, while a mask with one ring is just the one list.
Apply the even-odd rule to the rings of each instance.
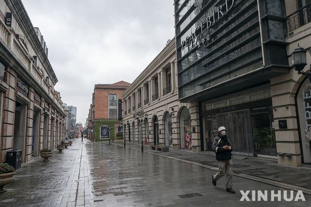
[[178, 98], [198, 103], [201, 150], [224, 125], [234, 154], [311, 162], [310, 81], [291, 64], [298, 43], [311, 61], [310, 3], [174, 1]]

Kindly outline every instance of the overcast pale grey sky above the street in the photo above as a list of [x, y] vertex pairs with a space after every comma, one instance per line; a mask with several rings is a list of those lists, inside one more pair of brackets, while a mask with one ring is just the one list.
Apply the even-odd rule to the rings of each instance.
[[173, 0], [22, 2], [77, 122], [86, 122], [95, 84], [132, 83], [174, 36]]

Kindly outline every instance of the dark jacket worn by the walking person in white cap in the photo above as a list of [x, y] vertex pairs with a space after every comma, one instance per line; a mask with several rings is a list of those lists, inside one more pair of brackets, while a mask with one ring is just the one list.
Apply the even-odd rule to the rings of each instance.
[[[219, 141], [220, 140], [220, 141]], [[224, 150], [224, 146], [231, 146], [229, 138], [227, 136], [222, 137], [220, 135], [217, 135], [217, 137], [214, 138], [213, 141], [213, 151], [216, 153], [216, 159], [217, 160], [225, 160], [225, 159], [231, 159], [232, 154], [232, 146], [231, 150]]]

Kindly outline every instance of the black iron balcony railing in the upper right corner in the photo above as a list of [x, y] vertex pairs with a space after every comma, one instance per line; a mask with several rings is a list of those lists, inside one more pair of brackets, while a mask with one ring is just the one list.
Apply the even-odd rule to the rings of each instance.
[[311, 22], [311, 3], [287, 16], [289, 32]]

